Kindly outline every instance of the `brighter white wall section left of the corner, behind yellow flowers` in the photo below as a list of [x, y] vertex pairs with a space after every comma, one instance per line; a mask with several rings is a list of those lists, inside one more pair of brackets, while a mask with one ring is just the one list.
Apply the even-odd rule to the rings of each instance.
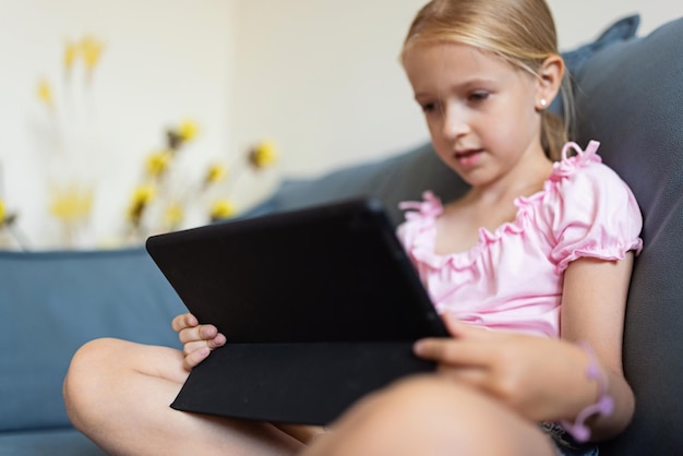
[[[184, 157], [188, 172], [229, 154], [233, 7], [225, 0], [0, 0], [0, 196], [20, 211], [34, 247], [49, 247], [57, 236], [46, 207], [57, 171], [95, 183], [99, 242], [121, 232], [144, 157], [164, 145], [167, 127], [185, 118], [200, 125]], [[96, 140], [88, 151], [60, 157], [36, 86], [46, 76], [56, 96], [64, 94], [64, 41], [85, 34], [105, 43], [92, 93]], [[58, 111], [64, 108], [60, 103]]]

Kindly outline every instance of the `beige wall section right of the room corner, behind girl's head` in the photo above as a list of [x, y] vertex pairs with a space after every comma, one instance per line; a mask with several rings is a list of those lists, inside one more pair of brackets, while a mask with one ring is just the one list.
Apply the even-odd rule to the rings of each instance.
[[[308, 176], [426, 141], [397, 61], [424, 0], [240, 0], [236, 134], [271, 134]], [[642, 32], [683, 15], [669, 0], [550, 0], [562, 49], [639, 12]]]

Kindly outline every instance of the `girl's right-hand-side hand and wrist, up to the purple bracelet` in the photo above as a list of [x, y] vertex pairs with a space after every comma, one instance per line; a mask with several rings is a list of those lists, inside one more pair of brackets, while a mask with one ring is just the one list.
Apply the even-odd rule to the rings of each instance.
[[598, 397], [588, 355], [550, 338], [488, 331], [445, 316], [454, 338], [429, 338], [416, 355], [439, 363], [438, 374], [498, 397], [532, 421], [573, 419]]

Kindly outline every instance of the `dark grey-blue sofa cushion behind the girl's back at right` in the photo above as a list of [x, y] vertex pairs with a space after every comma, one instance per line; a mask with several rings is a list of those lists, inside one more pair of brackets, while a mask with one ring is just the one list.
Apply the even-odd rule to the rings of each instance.
[[683, 448], [683, 19], [596, 53], [577, 74], [578, 141], [631, 185], [644, 214], [625, 323], [631, 428], [600, 454]]

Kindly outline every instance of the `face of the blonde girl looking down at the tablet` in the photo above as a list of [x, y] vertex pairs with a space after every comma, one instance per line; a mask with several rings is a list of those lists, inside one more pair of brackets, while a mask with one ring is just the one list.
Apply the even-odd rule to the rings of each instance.
[[539, 160], [540, 83], [467, 45], [418, 44], [404, 65], [441, 159], [472, 187], [523, 178]]

